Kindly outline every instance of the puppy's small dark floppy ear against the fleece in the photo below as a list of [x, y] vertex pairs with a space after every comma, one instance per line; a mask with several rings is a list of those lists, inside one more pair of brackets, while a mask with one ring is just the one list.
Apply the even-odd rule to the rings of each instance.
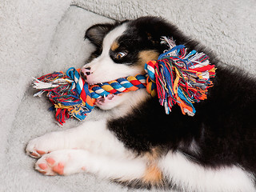
[[95, 46], [102, 46], [103, 38], [113, 28], [113, 24], [97, 24], [91, 26], [86, 30], [85, 38], [88, 38]]

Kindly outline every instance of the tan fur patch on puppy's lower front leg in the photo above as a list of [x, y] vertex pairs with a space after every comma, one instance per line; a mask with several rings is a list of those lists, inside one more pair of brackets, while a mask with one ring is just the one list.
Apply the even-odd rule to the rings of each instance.
[[158, 166], [155, 164], [148, 166], [142, 178], [142, 182], [160, 185], [162, 183], [162, 172], [158, 169]]

